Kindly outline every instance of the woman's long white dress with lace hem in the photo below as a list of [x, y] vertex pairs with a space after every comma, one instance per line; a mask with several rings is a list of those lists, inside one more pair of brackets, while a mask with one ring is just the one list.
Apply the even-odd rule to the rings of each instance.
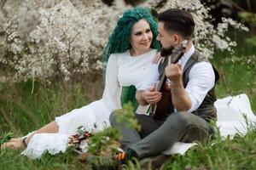
[[[40, 158], [44, 152], [56, 154], [67, 149], [67, 139], [77, 127], [94, 127], [101, 130], [109, 126], [108, 117], [112, 111], [121, 108], [120, 95], [123, 87], [142, 86], [143, 78], [157, 66], [152, 64], [156, 49], [146, 54], [131, 56], [127, 50], [123, 54], [111, 54], [106, 71], [106, 85], [102, 99], [96, 100], [80, 109], [75, 109], [55, 118], [59, 126], [58, 133], [36, 133], [21, 154], [31, 158]], [[137, 114], [146, 114], [148, 106], [139, 105]]]

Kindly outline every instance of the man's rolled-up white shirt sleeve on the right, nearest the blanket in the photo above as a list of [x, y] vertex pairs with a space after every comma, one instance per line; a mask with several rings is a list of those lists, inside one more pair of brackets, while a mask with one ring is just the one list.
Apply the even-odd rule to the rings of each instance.
[[189, 82], [185, 88], [186, 93], [191, 99], [189, 112], [195, 111], [205, 99], [209, 90], [215, 83], [215, 75], [212, 65], [208, 62], [195, 64], [189, 72]]

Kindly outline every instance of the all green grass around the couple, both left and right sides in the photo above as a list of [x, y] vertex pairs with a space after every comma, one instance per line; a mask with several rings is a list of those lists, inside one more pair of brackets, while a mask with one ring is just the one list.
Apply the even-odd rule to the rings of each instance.
[[[251, 47], [239, 48], [237, 54], [255, 54]], [[256, 113], [255, 70], [241, 63], [224, 62], [226, 57], [228, 54], [218, 53], [212, 59], [221, 75], [216, 88], [218, 98], [245, 93]], [[32, 82], [13, 85], [0, 83], [0, 136], [10, 131], [15, 136], [25, 135], [52, 121], [55, 116], [99, 99], [102, 95], [102, 79], [96, 82], [87, 78], [85, 80], [66, 85], [54, 82], [47, 87], [37, 82], [33, 94]], [[236, 136], [234, 140], [216, 139], [214, 142], [212, 146], [199, 144], [184, 156], [171, 156], [162, 169], [256, 169], [255, 129], [243, 138]], [[20, 156], [20, 150], [0, 151], [0, 170], [82, 168], [86, 168], [84, 163], [77, 159], [77, 154], [72, 150], [56, 156], [45, 154], [40, 160]]]

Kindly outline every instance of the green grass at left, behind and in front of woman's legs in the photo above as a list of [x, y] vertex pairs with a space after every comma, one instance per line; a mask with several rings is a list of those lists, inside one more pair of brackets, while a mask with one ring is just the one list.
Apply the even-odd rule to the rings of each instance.
[[[54, 82], [47, 87], [36, 83], [33, 94], [32, 82], [12, 85], [1, 83], [0, 137], [9, 132], [13, 132], [16, 137], [26, 135], [54, 120], [55, 116], [87, 105], [89, 101], [100, 99], [102, 82], [84, 83], [64, 85]], [[0, 150], [0, 170], [82, 169], [85, 167], [72, 150], [56, 156], [45, 154], [39, 160], [21, 156], [20, 152], [20, 150]]]

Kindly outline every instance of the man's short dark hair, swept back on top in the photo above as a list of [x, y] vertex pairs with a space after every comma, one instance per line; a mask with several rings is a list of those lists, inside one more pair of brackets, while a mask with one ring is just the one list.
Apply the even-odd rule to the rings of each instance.
[[166, 31], [177, 31], [186, 39], [194, 34], [195, 21], [192, 15], [185, 10], [170, 8], [162, 12], [158, 19], [164, 23]]

